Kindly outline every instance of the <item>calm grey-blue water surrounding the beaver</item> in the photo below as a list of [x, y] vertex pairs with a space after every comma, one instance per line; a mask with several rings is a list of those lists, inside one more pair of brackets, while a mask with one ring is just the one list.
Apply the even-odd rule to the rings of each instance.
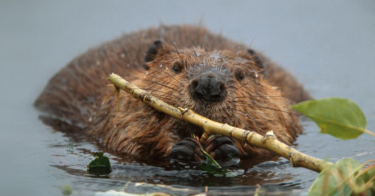
[[[367, 128], [375, 130], [374, 1], [242, 3], [1, 1], [0, 195], [59, 195], [65, 184], [74, 195], [110, 189], [187, 195], [204, 193], [206, 185], [212, 195], [252, 195], [257, 183], [267, 194], [306, 194], [318, 174], [292, 168], [284, 158], [242, 162], [231, 178], [136, 162], [80, 134], [53, 131], [32, 107], [48, 79], [90, 46], [159, 21], [198, 24], [202, 17], [215, 33], [248, 45], [255, 37], [253, 48], [290, 70], [315, 98], [354, 100], [368, 119]], [[332, 162], [374, 158], [370, 136], [341, 141], [317, 133], [314, 123], [302, 124], [297, 150]], [[100, 178], [86, 172], [92, 152], [99, 150], [113, 166]]]

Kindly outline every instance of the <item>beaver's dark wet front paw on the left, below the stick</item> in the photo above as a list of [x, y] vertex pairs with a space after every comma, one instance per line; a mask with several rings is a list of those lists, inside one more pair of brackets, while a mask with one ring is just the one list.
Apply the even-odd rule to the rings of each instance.
[[202, 163], [206, 158], [200, 148], [203, 148], [198, 140], [185, 138], [173, 145], [169, 151], [169, 162], [171, 163]]

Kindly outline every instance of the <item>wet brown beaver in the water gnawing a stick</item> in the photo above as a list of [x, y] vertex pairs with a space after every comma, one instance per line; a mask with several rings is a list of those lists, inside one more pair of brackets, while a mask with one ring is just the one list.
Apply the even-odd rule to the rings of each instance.
[[288, 106], [310, 98], [290, 73], [241, 43], [204, 27], [161, 25], [78, 56], [50, 79], [34, 105], [49, 119], [79, 127], [107, 147], [138, 159], [196, 162], [202, 159], [199, 148], [204, 148], [231, 165], [270, 154], [225, 136], [202, 146], [191, 137], [200, 137], [201, 127], [156, 111], [127, 93], [120, 93], [118, 110], [115, 97], [103, 103], [113, 91], [106, 83], [111, 73], [211, 120], [262, 135], [273, 130], [287, 145], [301, 133]]

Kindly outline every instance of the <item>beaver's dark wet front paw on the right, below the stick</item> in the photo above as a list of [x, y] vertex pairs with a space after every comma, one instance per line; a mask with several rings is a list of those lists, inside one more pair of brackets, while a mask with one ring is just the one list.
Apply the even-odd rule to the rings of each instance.
[[240, 152], [236, 144], [225, 136], [209, 139], [204, 146], [204, 151], [221, 166], [233, 166], [240, 162]]

